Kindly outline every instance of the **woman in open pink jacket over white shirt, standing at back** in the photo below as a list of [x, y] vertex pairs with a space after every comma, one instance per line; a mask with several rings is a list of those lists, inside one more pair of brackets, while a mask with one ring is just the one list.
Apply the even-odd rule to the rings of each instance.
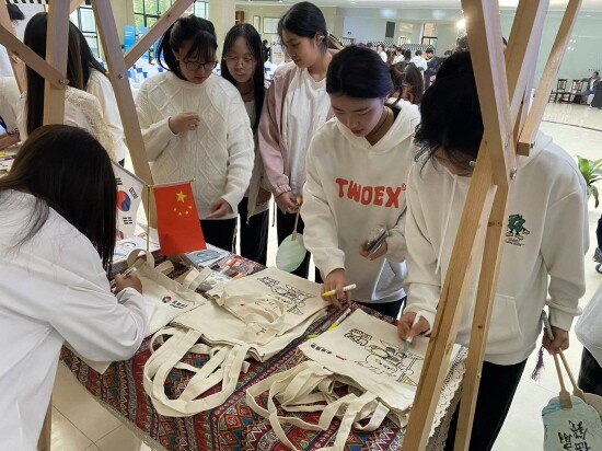
[[[322, 11], [310, 2], [293, 4], [278, 22], [278, 35], [292, 59], [269, 86], [259, 120], [259, 151], [276, 198], [280, 244], [293, 231], [305, 183], [305, 155], [313, 134], [333, 117], [326, 71], [333, 59]], [[303, 233], [303, 220], [298, 231]], [[308, 277], [310, 254], [294, 271]], [[319, 275], [316, 275], [319, 276]]]

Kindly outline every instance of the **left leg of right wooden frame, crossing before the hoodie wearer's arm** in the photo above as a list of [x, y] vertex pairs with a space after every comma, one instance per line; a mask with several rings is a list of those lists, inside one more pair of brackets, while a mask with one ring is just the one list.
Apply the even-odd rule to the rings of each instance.
[[453, 246], [437, 316], [431, 326], [430, 340], [420, 374], [409, 423], [402, 446], [403, 451], [426, 448], [439, 394], [443, 386], [450, 354], [455, 343], [462, 309], [466, 299], [467, 280], [474, 270], [473, 248], [483, 242], [485, 226], [496, 187], [491, 185], [493, 166], [484, 143], [477, 157], [462, 219], [460, 233]]

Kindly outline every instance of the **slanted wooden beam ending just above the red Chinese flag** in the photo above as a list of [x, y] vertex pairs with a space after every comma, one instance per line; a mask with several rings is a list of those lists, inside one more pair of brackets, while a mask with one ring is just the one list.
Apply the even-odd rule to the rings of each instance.
[[[121, 53], [121, 45], [117, 33], [117, 26], [113, 18], [111, 3], [106, 0], [92, 0], [92, 7], [108, 67], [108, 78], [115, 90], [115, 99], [117, 100], [117, 107], [121, 116], [124, 134], [134, 164], [134, 171], [136, 175], [142, 178], [147, 184], [152, 185], [152, 174], [147, 158], [144, 140], [142, 139], [140, 123], [138, 122], [138, 115], [136, 113], [136, 105], [127, 77], [127, 68], [124, 60], [124, 54]], [[147, 196], [142, 196], [142, 201], [147, 218], [149, 222], [153, 224], [154, 217], [149, 215]], [[153, 198], [151, 198], [151, 204], [154, 204]], [[152, 211], [154, 211], [154, 208]]]

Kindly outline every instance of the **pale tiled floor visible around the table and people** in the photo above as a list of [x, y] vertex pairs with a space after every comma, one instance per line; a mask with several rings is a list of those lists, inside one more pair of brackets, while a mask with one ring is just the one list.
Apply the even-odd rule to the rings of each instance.
[[[542, 130], [554, 137], [570, 154], [589, 159], [602, 158], [602, 111], [587, 106], [549, 104]], [[557, 124], [562, 123], [562, 124]], [[572, 125], [563, 125], [572, 124]], [[589, 127], [580, 128], [580, 127]], [[600, 131], [592, 130], [600, 129]], [[590, 205], [590, 223], [593, 231], [602, 209]], [[270, 228], [268, 264], [275, 261], [276, 230]], [[588, 292], [581, 304], [586, 304], [600, 282], [591, 262], [590, 250], [586, 257]], [[312, 271], [313, 273], [313, 271]], [[310, 274], [312, 274], [310, 273]], [[575, 372], [579, 370], [581, 345], [571, 335], [571, 347], [566, 352]], [[532, 357], [519, 385], [508, 419], [501, 430], [496, 451], [524, 451], [542, 448], [541, 410], [558, 392], [554, 363], [546, 357], [546, 370], [541, 381], [534, 382], [529, 374], [534, 366]], [[134, 433], [120, 425], [107, 410], [101, 407], [69, 374], [60, 368], [53, 394], [53, 451], [138, 451], [149, 450]]]

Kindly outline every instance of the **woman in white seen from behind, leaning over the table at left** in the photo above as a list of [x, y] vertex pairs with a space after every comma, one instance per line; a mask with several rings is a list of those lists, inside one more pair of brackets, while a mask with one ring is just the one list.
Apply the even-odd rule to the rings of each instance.
[[135, 274], [115, 276], [117, 189], [85, 130], [38, 127], [0, 180], [2, 449], [36, 449], [62, 345], [126, 360], [154, 311]]

